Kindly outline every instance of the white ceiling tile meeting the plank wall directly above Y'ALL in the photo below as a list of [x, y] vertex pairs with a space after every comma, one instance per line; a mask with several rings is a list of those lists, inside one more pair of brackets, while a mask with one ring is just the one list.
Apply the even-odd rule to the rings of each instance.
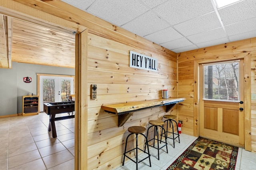
[[183, 36], [178, 33], [174, 28], [168, 27], [164, 30], [160, 30], [158, 32], [154, 32], [152, 34], [149, 34], [147, 36], [144, 36], [147, 40], [150, 40], [154, 43], [164, 43], [164, 42], [170, 42], [172, 40], [176, 40], [179, 38], [182, 38]]

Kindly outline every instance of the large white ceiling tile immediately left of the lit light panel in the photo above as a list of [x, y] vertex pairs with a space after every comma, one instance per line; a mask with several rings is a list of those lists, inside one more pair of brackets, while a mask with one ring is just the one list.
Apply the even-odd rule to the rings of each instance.
[[168, 0], [153, 9], [171, 25], [214, 11], [211, 0]]

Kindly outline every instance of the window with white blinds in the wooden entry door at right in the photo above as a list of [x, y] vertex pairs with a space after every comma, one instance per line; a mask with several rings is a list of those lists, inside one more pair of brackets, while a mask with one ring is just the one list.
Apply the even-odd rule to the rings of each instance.
[[239, 61], [202, 64], [203, 100], [240, 101]]

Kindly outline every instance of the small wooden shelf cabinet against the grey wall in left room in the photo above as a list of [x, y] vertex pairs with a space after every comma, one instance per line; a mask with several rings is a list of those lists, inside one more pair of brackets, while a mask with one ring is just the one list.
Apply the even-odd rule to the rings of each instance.
[[22, 99], [22, 115], [38, 115], [38, 96], [23, 96]]

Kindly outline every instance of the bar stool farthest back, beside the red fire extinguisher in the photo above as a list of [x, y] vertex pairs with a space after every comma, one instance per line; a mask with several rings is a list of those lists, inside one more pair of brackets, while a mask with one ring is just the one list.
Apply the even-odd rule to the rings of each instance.
[[[172, 123], [172, 122], [176, 123], [177, 130], [178, 130], [178, 123], [174, 120], [174, 119], [177, 119], [177, 116], [175, 116], [175, 115], [164, 115], [164, 118], [167, 119], [167, 120], [164, 121], [164, 123], [167, 122], [166, 123], [166, 132], [164, 132], [166, 134], [164, 134], [164, 136], [173, 140], [173, 148], [175, 148], [174, 140], [176, 138], [179, 138], [179, 143], [180, 143], [180, 134], [178, 133], [178, 131], [177, 131], [177, 133], [174, 133], [173, 123]], [[168, 123], [169, 123], [170, 128], [171, 128], [171, 124], [172, 124], [172, 132], [168, 131]], [[171, 133], [172, 137], [168, 137], [168, 133]], [[161, 132], [161, 140], [162, 140], [162, 134], [163, 134], [163, 131]], [[174, 137], [174, 135], [177, 135], [177, 136]]]

